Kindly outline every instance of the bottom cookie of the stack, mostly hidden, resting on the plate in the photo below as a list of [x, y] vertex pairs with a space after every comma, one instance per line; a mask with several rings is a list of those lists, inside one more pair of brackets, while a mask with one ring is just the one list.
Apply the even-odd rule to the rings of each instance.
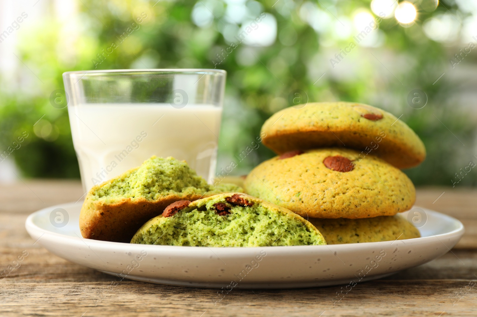
[[327, 244], [364, 243], [421, 237], [419, 230], [401, 215], [366, 219], [309, 218]]

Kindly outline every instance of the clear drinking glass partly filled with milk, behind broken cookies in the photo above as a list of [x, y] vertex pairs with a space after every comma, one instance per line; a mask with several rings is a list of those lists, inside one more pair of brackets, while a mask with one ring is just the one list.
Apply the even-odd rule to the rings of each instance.
[[219, 69], [64, 73], [84, 190], [153, 155], [184, 159], [212, 183], [225, 78]]

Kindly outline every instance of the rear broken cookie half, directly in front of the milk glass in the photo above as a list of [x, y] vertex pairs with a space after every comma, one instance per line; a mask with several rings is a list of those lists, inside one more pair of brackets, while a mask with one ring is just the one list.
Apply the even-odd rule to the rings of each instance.
[[83, 238], [129, 242], [148, 219], [175, 201], [241, 191], [233, 184], [207, 184], [185, 161], [153, 156], [90, 189], [81, 208], [80, 230]]

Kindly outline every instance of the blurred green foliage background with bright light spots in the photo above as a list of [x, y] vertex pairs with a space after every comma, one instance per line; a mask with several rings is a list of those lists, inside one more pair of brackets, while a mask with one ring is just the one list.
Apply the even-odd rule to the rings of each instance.
[[[384, 2], [393, 5], [394, 1]], [[360, 32], [363, 21], [357, 15], [367, 14], [361, 20], [370, 14], [377, 17], [370, 1], [75, 3], [76, 28], [65, 29], [51, 4], [48, 16], [33, 28], [19, 31], [22, 84], [0, 88], [0, 147], [3, 151], [23, 131], [28, 132], [21, 149], [11, 153], [26, 177], [79, 178], [67, 109], [52, 107], [50, 95], [62, 89], [64, 71], [95, 69], [97, 54], [116, 42], [116, 36], [142, 12], [147, 17], [140, 28], [97, 69], [214, 68], [220, 61], [217, 54], [231, 42], [237, 44], [216, 66], [228, 72], [220, 135], [228, 146], [219, 143], [218, 170], [250, 145], [265, 119], [292, 105], [290, 95], [297, 89], [302, 91], [302, 101], [357, 101], [401, 116], [423, 139], [428, 152], [421, 166], [406, 171], [416, 185], [452, 185], [460, 168], [477, 162], [475, 103], [463, 105], [460, 98], [462, 91], [473, 90], [466, 85], [475, 80], [477, 72], [469, 75], [465, 70], [475, 69], [477, 50], [466, 54], [458, 65], [450, 62], [469, 42], [477, 43], [477, 38], [468, 36], [469, 25], [476, 25], [472, 23], [477, 9], [469, 9], [463, 1], [446, 1], [437, 7], [433, 0], [415, 1], [414, 23], [401, 25], [393, 16], [382, 19], [367, 42], [334, 67], [330, 59], [336, 60], [335, 54]], [[269, 22], [276, 21], [276, 36], [270, 45], [234, 40], [240, 28], [263, 12]], [[256, 31], [265, 27], [259, 24]], [[470, 30], [477, 35], [477, 28]], [[0, 79], [2, 83], [9, 80]], [[422, 109], [408, 104], [414, 89], [427, 96]], [[272, 155], [260, 146], [234, 173], [246, 174]], [[476, 184], [477, 173], [471, 171], [456, 186]]]

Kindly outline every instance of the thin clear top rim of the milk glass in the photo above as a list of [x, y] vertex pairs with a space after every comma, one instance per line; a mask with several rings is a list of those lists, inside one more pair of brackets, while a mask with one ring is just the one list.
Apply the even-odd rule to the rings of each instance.
[[151, 73], [155, 75], [161, 74], [184, 74], [184, 75], [194, 75], [194, 74], [222, 74], [226, 75], [227, 71], [224, 69], [207, 69], [207, 68], [164, 68], [164, 69], [97, 69], [97, 70], [73, 70], [66, 71], [62, 75], [72, 77], [75, 75], [109, 75], [109, 74], [145, 74]]

